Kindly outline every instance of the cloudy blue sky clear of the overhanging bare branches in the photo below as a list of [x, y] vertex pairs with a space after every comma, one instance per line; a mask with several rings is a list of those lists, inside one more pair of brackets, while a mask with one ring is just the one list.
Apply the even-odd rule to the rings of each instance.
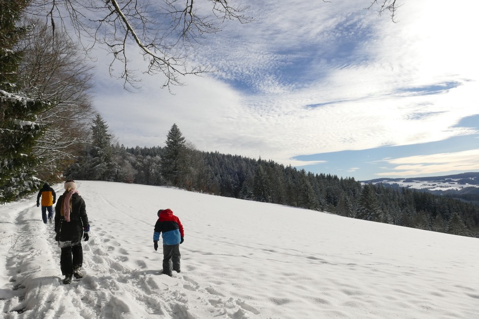
[[479, 170], [479, 4], [406, 0], [393, 23], [370, 1], [238, 2], [256, 20], [209, 35], [191, 63], [217, 71], [174, 95], [158, 76], [122, 90], [99, 56], [94, 104], [120, 143], [164, 146], [175, 123], [197, 149], [357, 180]]

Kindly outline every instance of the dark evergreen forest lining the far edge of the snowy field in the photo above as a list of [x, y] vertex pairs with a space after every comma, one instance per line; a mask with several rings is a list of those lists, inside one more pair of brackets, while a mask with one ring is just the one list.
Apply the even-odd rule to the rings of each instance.
[[381, 184], [362, 185], [353, 177], [313, 174], [271, 160], [195, 149], [174, 124], [165, 147], [125, 148], [110, 143], [108, 126], [97, 115], [92, 143], [65, 170], [80, 180], [169, 186], [325, 211], [423, 230], [479, 236], [479, 207], [450, 197]]

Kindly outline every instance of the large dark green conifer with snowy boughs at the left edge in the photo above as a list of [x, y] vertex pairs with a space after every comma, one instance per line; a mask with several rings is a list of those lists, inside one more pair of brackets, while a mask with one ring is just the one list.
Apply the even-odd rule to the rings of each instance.
[[37, 114], [50, 107], [19, 92], [22, 52], [15, 45], [26, 32], [18, 27], [28, 1], [2, 1], [0, 6], [0, 203], [14, 200], [36, 189], [33, 155], [35, 141], [45, 128], [36, 123]]

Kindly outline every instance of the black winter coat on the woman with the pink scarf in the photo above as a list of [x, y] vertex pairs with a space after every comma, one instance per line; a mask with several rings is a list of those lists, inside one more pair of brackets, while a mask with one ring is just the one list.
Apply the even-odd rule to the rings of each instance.
[[55, 233], [60, 234], [60, 241], [81, 241], [83, 238], [83, 229], [88, 227], [88, 216], [85, 201], [78, 193], [71, 196], [70, 221], [65, 221], [65, 216], [61, 215], [61, 207], [66, 192], [58, 198], [55, 205]]

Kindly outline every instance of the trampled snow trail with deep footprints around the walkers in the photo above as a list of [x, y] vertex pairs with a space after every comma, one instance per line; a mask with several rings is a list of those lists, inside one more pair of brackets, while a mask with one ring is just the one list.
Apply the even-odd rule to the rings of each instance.
[[[61, 193], [62, 190], [56, 191]], [[94, 196], [99, 196], [107, 207], [115, 209], [115, 205], [103, 196]], [[91, 198], [86, 201], [92, 202]], [[244, 300], [228, 298], [212, 286], [202, 287], [188, 275], [176, 272], [173, 277], [161, 275], [158, 268], [161, 267], [161, 249], [158, 250], [160, 254], [153, 253], [152, 240], [147, 240], [152, 239], [154, 214], [149, 222], [138, 220], [138, 215], [131, 211], [119, 213], [117, 220], [97, 222], [99, 218], [94, 216], [94, 209], [90, 207], [92, 235], [89, 241], [82, 242], [85, 277], [64, 285], [59, 266], [60, 248], [54, 241], [53, 224], [43, 224], [39, 209], [32, 200], [7, 206], [9, 221], [2, 222], [11, 225], [7, 228], [10, 231], [2, 234], [1, 245], [9, 247], [4, 277], [13, 288], [10, 293], [2, 289], [4, 318], [240, 319], [252, 318], [247, 314], [259, 314]], [[143, 258], [153, 256], [157, 265], [154, 269], [149, 269], [142, 258], [130, 259], [129, 251], [122, 248], [122, 243], [128, 242], [128, 236], [115, 238], [109, 234], [111, 227], [128, 225], [129, 229], [136, 229], [135, 223], [151, 228], [145, 238], [145, 243], [149, 244], [148, 254]]]

